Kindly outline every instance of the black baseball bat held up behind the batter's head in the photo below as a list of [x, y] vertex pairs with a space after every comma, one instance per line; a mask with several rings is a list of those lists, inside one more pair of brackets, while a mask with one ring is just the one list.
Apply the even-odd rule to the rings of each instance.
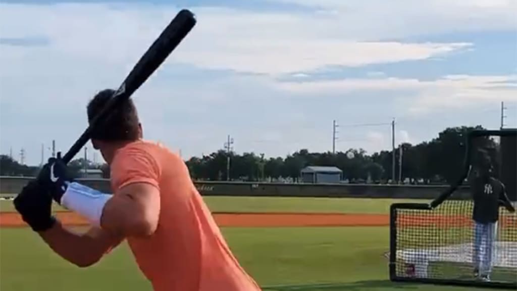
[[138, 63], [129, 72], [124, 82], [113, 94], [102, 110], [90, 121], [83, 134], [72, 144], [72, 147], [63, 156], [63, 162], [68, 164], [72, 158], [84, 147], [90, 139], [90, 134], [95, 126], [110, 118], [111, 114], [124, 101], [140, 88], [140, 86], [153, 74], [153, 72], [165, 61], [169, 54], [179, 45], [196, 24], [194, 14], [183, 9], [165, 27], [153, 45], [144, 53]]

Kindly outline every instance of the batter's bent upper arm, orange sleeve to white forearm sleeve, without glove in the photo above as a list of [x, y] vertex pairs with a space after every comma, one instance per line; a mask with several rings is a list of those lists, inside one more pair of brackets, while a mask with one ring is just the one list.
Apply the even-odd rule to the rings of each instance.
[[116, 237], [152, 235], [160, 213], [160, 168], [155, 158], [143, 149], [125, 149], [111, 170], [114, 195], [72, 182], [58, 200]]

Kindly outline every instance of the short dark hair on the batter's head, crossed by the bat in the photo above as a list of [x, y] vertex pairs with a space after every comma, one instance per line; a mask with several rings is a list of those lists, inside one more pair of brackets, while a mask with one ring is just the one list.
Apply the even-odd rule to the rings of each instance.
[[[105, 89], [97, 93], [88, 103], [88, 123], [104, 108], [115, 90]], [[98, 123], [92, 130], [92, 138], [104, 141], [132, 141], [140, 138], [140, 121], [131, 99], [124, 101], [111, 117]]]

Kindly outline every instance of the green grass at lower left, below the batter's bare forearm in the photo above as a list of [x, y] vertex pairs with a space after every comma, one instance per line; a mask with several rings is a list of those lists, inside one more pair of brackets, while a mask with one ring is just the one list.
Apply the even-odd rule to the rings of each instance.
[[97, 266], [80, 269], [53, 253], [28, 228], [0, 230], [0, 290], [150, 290], [124, 245]]

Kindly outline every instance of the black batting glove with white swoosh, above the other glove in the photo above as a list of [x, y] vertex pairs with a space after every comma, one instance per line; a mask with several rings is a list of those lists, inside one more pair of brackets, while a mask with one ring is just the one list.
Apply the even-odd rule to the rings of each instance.
[[48, 163], [39, 172], [37, 180], [47, 187], [54, 201], [60, 205], [61, 197], [66, 192], [68, 184], [73, 182], [68, 166], [63, 162], [60, 152], [57, 153], [57, 157], [49, 158]]

